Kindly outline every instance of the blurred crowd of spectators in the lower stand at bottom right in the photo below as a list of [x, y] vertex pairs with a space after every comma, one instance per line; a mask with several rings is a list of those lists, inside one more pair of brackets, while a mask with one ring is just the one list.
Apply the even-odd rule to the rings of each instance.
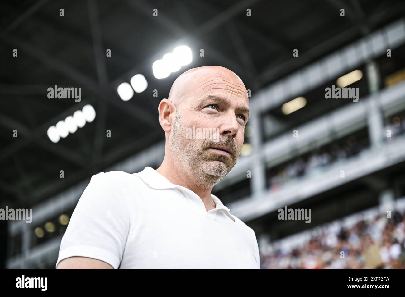
[[[335, 228], [335, 232], [324, 226], [320, 235], [312, 236], [301, 247], [261, 253], [260, 262], [264, 269], [364, 269], [370, 257], [366, 252], [375, 244], [382, 260], [376, 269], [405, 268], [404, 213], [395, 212], [392, 219], [377, 215], [350, 228]], [[340, 257], [342, 251], [344, 259]]]

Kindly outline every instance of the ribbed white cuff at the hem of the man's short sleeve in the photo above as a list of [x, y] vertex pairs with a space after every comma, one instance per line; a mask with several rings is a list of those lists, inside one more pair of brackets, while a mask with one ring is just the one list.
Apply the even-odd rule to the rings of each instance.
[[64, 249], [63, 251], [59, 252], [59, 257], [58, 261], [56, 262], [55, 268], [58, 267], [59, 262], [62, 261], [63, 259], [74, 256], [88, 257], [101, 260], [109, 263], [111, 266], [113, 266], [114, 269], [118, 269], [120, 263], [118, 257], [107, 250], [100, 249], [96, 246], [75, 245], [70, 246]]

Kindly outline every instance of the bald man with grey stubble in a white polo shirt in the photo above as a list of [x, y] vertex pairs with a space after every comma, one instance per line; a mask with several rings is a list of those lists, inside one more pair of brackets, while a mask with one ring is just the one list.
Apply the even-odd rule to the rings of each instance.
[[245, 85], [224, 67], [190, 69], [158, 107], [164, 160], [94, 175], [57, 269], [259, 269], [255, 232], [211, 194], [236, 164], [249, 118]]

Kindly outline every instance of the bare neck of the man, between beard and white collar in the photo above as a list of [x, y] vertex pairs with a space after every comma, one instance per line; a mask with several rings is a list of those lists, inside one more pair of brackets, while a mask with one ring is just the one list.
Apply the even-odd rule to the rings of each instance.
[[158, 173], [166, 177], [168, 181], [175, 185], [181, 185], [198, 195], [205, 205], [205, 209], [215, 209], [215, 202], [211, 198], [212, 187], [203, 188], [198, 185], [193, 178], [189, 178], [185, 170], [179, 169], [175, 166], [173, 160], [169, 161], [166, 156], [158, 169]]

